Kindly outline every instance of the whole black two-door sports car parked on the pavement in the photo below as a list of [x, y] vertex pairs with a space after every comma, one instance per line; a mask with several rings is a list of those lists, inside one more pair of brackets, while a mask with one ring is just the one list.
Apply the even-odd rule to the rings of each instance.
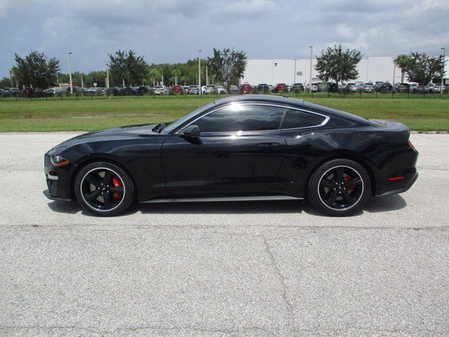
[[417, 179], [410, 132], [304, 100], [242, 95], [171, 123], [86, 133], [45, 154], [48, 190], [100, 216], [139, 202], [304, 199], [331, 216]]

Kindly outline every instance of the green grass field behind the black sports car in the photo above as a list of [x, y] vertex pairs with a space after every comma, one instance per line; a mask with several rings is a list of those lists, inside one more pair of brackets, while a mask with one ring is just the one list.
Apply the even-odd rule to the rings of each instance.
[[[83, 100], [7, 100], [0, 131], [93, 131], [172, 121], [215, 96], [126, 97]], [[305, 98], [361, 117], [392, 119], [416, 131], [449, 131], [449, 100], [422, 98]]]

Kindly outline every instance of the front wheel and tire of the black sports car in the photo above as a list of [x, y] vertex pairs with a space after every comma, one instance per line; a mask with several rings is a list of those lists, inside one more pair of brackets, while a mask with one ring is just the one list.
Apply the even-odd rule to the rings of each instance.
[[81, 207], [98, 216], [117, 216], [133, 204], [135, 186], [119, 166], [95, 161], [76, 174], [76, 199]]

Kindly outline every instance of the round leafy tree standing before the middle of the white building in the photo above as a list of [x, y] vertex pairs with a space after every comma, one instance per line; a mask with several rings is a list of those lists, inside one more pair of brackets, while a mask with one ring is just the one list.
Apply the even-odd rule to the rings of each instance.
[[358, 77], [357, 64], [363, 54], [356, 49], [342, 51], [342, 45], [328, 47], [316, 57], [315, 70], [319, 72], [319, 78], [323, 81], [333, 79], [336, 84], [340, 81], [348, 81]]

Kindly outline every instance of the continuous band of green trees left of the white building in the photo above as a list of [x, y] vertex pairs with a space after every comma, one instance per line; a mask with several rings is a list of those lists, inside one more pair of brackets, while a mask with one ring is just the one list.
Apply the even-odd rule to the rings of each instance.
[[[11, 68], [11, 77], [0, 80], [0, 87], [32, 87], [50, 88], [69, 83], [69, 74], [60, 72], [60, 61], [48, 58], [47, 55], [32, 51], [25, 58], [15, 54], [15, 65]], [[220, 83], [225, 86], [238, 84], [246, 70], [247, 58], [244, 51], [224, 48], [222, 51], [213, 48], [213, 57], [201, 59], [201, 83]], [[107, 68], [107, 69], [106, 69]], [[155, 86], [187, 85], [198, 83], [198, 60], [187, 60], [185, 63], [162, 63], [149, 65], [143, 55], [135, 51], [116, 51], [108, 54], [105, 70], [88, 73], [72, 73], [72, 83], [76, 86], [90, 87], [96, 83], [100, 87], [107, 86], [107, 70], [109, 86]]]

